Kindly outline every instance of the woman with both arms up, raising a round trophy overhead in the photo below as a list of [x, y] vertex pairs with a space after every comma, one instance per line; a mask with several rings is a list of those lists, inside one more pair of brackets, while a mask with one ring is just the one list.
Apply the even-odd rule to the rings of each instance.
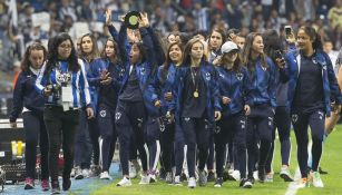
[[[160, 100], [150, 85], [152, 70], [155, 64], [155, 48], [153, 38], [148, 31], [148, 19], [141, 14], [139, 19], [139, 35], [141, 42], [134, 42], [129, 53], [126, 50], [127, 27], [123, 22], [118, 35], [119, 52], [125, 65], [125, 76], [119, 90], [118, 104], [115, 119], [116, 128], [120, 143], [120, 163], [124, 178], [117, 183], [117, 186], [129, 186], [128, 158], [130, 152], [130, 142], [135, 142], [139, 150], [143, 176], [139, 184], [149, 184], [150, 176], [147, 173], [147, 146], [145, 145], [147, 118], [148, 116], [158, 116]], [[131, 139], [133, 137], [133, 139]], [[145, 146], [144, 146], [145, 145]]]

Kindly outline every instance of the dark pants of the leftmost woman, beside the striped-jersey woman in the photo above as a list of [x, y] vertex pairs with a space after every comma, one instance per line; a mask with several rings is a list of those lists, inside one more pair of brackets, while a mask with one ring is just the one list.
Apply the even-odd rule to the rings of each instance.
[[26, 135], [25, 158], [27, 177], [35, 178], [36, 176], [37, 144], [39, 140], [41, 179], [49, 179], [49, 139], [42, 113], [26, 111], [22, 114], [22, 120]]

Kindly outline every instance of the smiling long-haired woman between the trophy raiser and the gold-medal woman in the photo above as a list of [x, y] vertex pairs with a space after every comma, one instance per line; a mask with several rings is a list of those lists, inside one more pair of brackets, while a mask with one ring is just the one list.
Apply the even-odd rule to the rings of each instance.
[[[174, 120], [175, 99], [173, 88], [175, 84], [176, 71], [183, 60], [183, 45], [173, 42], [167, 50], [167, 58], [163, 66], [158, 68], [157, 87], [160, 91], [162, 101], [162, 127], [160, 165], [166, 172], [166, 183], [180, 184], [182, 165], [184, 162], [184, 135], [180, 130], [179, 121]], [[174, 159], [174, 162], [173, 162]], [[176, 165], [175, 179], [173, 179], [172, 166]]]

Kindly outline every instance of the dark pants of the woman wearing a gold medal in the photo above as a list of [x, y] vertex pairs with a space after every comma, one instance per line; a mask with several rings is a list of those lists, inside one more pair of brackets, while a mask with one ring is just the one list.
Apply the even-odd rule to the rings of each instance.
[[203, 170], [208, 157], [209, 125], [203, 118], [182, 118], [182, 129], [187, 145], [187, 166], [189, 177], [195, 177], [196, 150], [198, 147], [198, 169]]

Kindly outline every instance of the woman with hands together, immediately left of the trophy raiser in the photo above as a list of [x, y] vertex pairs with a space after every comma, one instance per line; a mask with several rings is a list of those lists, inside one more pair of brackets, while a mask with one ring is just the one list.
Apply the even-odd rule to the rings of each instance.
[[109, 167], [117, 139], [115, 109], [125, 74], [118, 51], [117, 43], [108, 38], [101, 51], [101, 62], [92, 65], [88, 71], [88, 78], [91, 78], [98, 91], [97, 126], [100, 131], [101, 179], [111, 179]]

